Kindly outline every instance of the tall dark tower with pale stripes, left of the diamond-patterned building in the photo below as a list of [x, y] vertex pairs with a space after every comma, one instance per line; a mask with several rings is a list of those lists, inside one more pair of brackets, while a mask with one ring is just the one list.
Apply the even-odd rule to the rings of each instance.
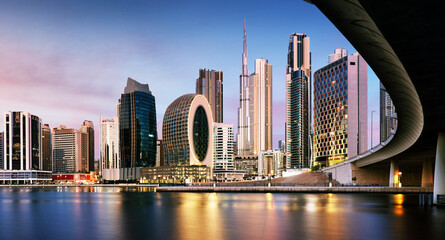
[[286, 168], [312, 165], [311, 52], [306, 34], [289, 39], [286, 69]]

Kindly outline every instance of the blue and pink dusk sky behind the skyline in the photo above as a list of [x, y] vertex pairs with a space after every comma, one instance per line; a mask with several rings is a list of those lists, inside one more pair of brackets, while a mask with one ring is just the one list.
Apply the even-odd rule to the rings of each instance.
[[[84, 120], [92, 120], [98, 159], [99, 117], [116, 115], [128, 77], [149, 85], [162, 136], [166, 108], [183, 94], [194, 93], [199, 69], [206, 68], [223, 71], [224, 123], [236, 129], [244, 19], [249, 73], [256, 58], [268, 59], [273, 67], [277, 147], [285, 132], [290, 35], [310, 37], [312, 72], [327, 65], [335, 48], [356, 52], [315, 5], [303, 0], [2, 0], [0, 112], [30, 112], [51, 128], [79, 129]], [[368, 126], [370, 131], [375, 111], [375, 145], [379, 80], [371, 69], [368, 75]]]

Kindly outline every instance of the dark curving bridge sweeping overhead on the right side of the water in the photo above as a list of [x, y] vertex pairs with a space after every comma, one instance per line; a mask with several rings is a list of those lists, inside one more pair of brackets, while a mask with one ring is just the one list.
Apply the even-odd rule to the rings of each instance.
[[[368, 62], [398, 117], [384, 144], [327, 168], [340, 182], [433, 186], [445, 194], [445, 34], [437, 3], [414, 0], [307, 0]], [[441, 69], [444, 67], [444, 69]]]

